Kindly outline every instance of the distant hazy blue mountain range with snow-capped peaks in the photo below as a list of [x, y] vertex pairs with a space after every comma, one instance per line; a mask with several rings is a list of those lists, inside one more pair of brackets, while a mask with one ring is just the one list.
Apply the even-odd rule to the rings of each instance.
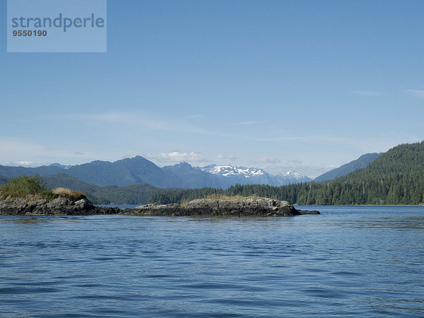
[[140, 155], [134, 158], [117, 160], [114, 163], [96, 160], [91, 163], [73, 166], [65, 166], [59, 163], [41, 167], [7, 167], [0, 165], [0, 176], [3, 177], [63, 174], [100, 187], [151, 184], [159, 188], [215, 187], [225, 189], [234, 184], [280, 186], [312, 181], [309, 177], [294, 171], [289, 171], [284, 175], [270, 175], [261, 169], [232, 165], [192, 167], [188, 163], [179, 163], [177, 165], [158, 167], [158, 165]]

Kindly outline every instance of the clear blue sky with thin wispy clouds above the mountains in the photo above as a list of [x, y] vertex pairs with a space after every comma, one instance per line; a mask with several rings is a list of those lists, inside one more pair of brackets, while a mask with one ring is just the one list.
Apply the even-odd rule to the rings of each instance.
[[7, 53], [0, 165], [309, 177], [424, 139], [424, 1], [108, 0], [106, 53]]

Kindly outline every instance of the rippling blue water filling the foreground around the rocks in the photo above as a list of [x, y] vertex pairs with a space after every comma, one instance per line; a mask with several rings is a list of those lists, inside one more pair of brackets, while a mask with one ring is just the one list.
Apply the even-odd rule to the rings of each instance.
[[1, 216], [0, 316], [424, 316], [424, 207], [314, 208]]

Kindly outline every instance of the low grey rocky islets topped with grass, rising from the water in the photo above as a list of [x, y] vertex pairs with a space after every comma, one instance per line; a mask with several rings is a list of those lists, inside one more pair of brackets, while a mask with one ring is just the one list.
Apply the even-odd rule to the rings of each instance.
[[83, 216], [124, 214], [129, 216], [300, 216], [319, 214], [318, 211], [301, 211], [287, 201], [267, 198], [246, 198], [237, 201], [197, 199], [187, 206], [179, 204], [148, 204], [121, 210], [91, 204], [83, 198], [72, 201], [63, 197], [53, 200], [27, 196], [25, 199], [8, 197], [0, 201], [0, 215], [22, 216]]

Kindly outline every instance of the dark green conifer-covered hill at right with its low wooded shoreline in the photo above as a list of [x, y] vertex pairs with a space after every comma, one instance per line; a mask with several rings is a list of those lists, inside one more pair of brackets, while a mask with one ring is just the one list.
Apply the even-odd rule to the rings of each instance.
[[189, 201], [219, 193], [268, 196], [294, 204], [424, 204], [424, 142], [396, 146], [369, 166], [325, 182], [283, 187], [236, 185], [153, 194], [151, 202]]

